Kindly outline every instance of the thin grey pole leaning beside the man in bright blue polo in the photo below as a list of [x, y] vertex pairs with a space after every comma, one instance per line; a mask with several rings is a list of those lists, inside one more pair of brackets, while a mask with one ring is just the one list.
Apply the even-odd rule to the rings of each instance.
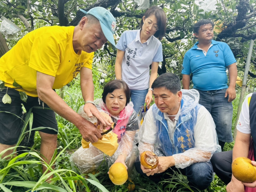
[[235, 120], [234, 135], [233, 135], [234, 139], [236, 137], [236, 132], [237, 132], [236, 125], [237, 125], [237, 122], [238, 122], [238, 119], [239, 119], [239, 115], [240, 115], [240, 112], [241, 112], [241, 108], [242, 108], [242, 104], [243, 104], [244, 96], [245, 96], [246, 82], [247, 82], [248, 71], [249, 71], [249, 67], [250, 67], [250, 63], [251, 63], [251, 57], [252, 57], [252, 52], [253, 52], [253, 42], [254, 42], [254, 40], [251, 39], [250, 40], [248, 54], [247, 54], [246, 65], [245, 65], [245, 69], [244, 69], [243, 84], [242, 84], [242, 89], [241, 89], [240, 99], [239, 99], [239, 105], [238, 105], [237, 114], [236, 114], [236, 120]]

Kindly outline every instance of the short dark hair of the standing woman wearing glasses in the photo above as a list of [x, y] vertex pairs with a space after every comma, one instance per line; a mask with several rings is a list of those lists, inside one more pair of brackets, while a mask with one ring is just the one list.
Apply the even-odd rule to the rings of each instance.
[[[150, 9], [147, 9], [145, 13], [145, 19], [147, 19], [150, 15], [155, 15], [157, 19], [157, 25], [158, 30], [154, 34], [156, 38], [161, 40], [165, 36], [165, 30], [166, 30], [166, 15], [163, 9], [153, 6]], [[143, 18], [140, 21], [140, 28], [142, 28], [143, 25]]]

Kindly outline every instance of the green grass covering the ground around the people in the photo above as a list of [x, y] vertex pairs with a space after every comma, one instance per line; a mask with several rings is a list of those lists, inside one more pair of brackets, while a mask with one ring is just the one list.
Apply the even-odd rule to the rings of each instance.
[[[95, 99], [100, 98], [103, 87], [99, 84], [97, 79], [100, 79], [100, 74], [96, 72], [94, 75], [95, 84]], [[56, 90], [59, 93], [59, 90]], [[82, 98], [79, 77], [70, 83], [69, 86], [64, 87], [64, 100], [74, 110], [78, 111], [79, 107], [84, 105]], [[237, 105], [239, 98], [237, 97], [234, 104], [233, 115], [233, 129], [234, 121], [236, 117]], [[110, 191], [110, 192], [125, 192], [128, 191], [128, 183], [121, 186], [114, 185], [108, 177], [108, 166], [105, 162], [99, 167], [99, 172], [95, 175], [89, 174], [86, 176], [81, 175], [79, 171], [72, 167], [69, 162], [69, 157], [81, 146], [81, 135], [78, 129], [70, 122], [66, 121], [59, 115], [56, 115], [58, 122], [58, 149], [54, 153], [54, 157], [51, 163], [48, 165], [40, 157], [40, 143], [41, 139], [38, 132], [35, 133], [34, 146], [25, 153], [18, 155], [12, 159], [0, 160], [0, 188], [4, 192], [24, 192], [30, 190], [40, 190], [42, 192], [47, 191]], [[29, 121], [30, 120], [30, 121]], [[32, 115], [27, 115], [25, 120], [25, 127], [30, 126], [33, 120]], [[24, 128], [25, 128], [24, 127]], [[30, 129], [31, 130], [31, 129]], [[23, 131], [24, 132], [24, 131]], [[19, 142], [21, 141], [20, 138]], [[224, 150], [231, 150], [234, 146], [234, 142], [227, 143]], [[14, 147], [15, 149], [16, 147]], [[3, 154], [3, 152], [2, 152]], [[1, 154], [0, 154], [1, 155]], [[55, 165], [55, 169], [52, 170], [51, 165]], [[48, 170], [52, 172], [49, 174], [42, 173], [42, 165], [47, 166]], [[46, 183], [46, 179], [49, 175], [54, 175], [51, 183]], [[153, 183], [147, 177], [140, 175], [135, 176], [132, 181], [135, 184], [134, 192], [171, 192], [171, 191], [193, 191], [188, 186], [188, 181], [183, 175], [176, 173], [171, 179], [164, 180], [158, 184]], [[100, 184], [101, 183], [101, 184]], [[104, 187], [103, 187], [104, 186]], [[198, 190], [199, 191], [199, 190]], [[208, 189], [205, 192], [224, 192], [226, 186], [215, 175], [215, 178]]]

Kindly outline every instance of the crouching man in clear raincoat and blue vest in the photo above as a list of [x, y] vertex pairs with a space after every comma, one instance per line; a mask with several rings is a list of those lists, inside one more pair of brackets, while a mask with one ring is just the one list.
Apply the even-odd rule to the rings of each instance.
[[177, 75], [160, 75], [152, 88], [155, 104], [139, 131], [139, 151], [152, 151], [159, 156], [159, 164], [151, 170], [136, 162], [136, 170], [158, 183], [180, 168], [191, 187], [206, 189], [213, 179], [209, 160], [221, 151], [213, 118], [198, 104], [197, 90], [181, 90]]

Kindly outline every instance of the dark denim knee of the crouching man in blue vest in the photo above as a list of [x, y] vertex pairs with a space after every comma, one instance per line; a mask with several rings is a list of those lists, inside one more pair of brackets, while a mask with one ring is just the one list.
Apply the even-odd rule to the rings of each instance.
[[206, 189], [213, 180], [213, 169], [210, 162], [199, 162], [190, 165], [187, 171], [188, 180], [198, 189]]

